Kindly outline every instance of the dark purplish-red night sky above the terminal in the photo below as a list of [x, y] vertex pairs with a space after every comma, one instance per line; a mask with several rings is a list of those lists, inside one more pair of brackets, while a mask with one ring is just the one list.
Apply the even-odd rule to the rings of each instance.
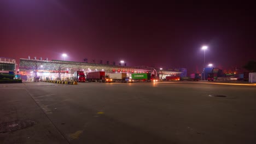
[[256, 60], [253, 4], [0, 1], [0, 57], [124, 60], [127, 66], [234, 69]]

